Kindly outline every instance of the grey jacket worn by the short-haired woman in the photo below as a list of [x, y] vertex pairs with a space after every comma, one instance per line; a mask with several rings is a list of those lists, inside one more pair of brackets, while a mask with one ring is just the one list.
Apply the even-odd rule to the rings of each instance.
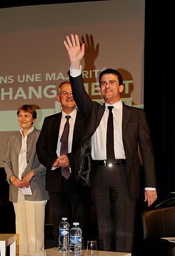
[[[48, 199], [48, 192], [45, 190], [45, 177], [46, 168], [40, 164], [38, 156], [36, 154], [36, 141], [38, 140], [39, 131], [34, 130], [27, 135], [27, 166], [22, 177], [26, 176], [31, 170], [35, 176], [30, 181], [32, 195], [25, 195], [27, 201], [42, 201]], [[18, 177], [18, 156], [21, 151], [22, 135], [20, 132], [14, 133], [9, 137], [7, 142], [7, 149], [3, 163], [7, 174], [7, 181], [10, 184], [9, 187], [9, 200], [17, 202], [18, 188], [11, 184], [10, 177]]]

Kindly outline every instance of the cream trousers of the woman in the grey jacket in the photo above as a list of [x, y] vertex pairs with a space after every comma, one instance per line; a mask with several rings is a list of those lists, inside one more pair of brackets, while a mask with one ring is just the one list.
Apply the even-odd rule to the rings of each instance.
[[21, 189], [14, 202], [16, 233], [19, 234], [19, 254], [34, 253], [44, 249], [44, 201], [26, 201]]

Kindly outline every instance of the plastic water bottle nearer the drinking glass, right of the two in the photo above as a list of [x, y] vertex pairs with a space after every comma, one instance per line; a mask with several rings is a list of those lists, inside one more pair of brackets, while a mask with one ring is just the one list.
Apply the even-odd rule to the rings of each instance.
[[74, 222], [70, 231], [70, 254], [82, 254], [82, 229], [79, 222]]

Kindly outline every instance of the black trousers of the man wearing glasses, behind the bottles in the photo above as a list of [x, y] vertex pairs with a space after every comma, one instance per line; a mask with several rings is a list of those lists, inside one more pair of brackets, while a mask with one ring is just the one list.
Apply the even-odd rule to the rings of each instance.
[[[90, 210], [90, 190], [74, 181], [72, 175], [66, 180], [62, 176], [59, 192], [48, 192], [50, 197], [51, 217], [54, 227], [55, 246], [58, 247], [59, 223], [67, 217], [70, 227], [72, 222], [79, 222], [86, 237], [86, 227]], [[85, 238], [86, 239], [86, 238]]]

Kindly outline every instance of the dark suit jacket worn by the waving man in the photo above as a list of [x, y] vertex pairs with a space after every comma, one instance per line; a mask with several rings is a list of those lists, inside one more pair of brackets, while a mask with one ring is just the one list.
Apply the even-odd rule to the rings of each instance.
[[[80, 112], [83, 113], [87, 120], [87, 136], [83, 137], [76, 155], [76, 168], [82, 166], [86, 162], [86, 149], [88, 149], [88, 157], [91, 152], [91, 143], [89, 138], [92, 137], [96, 128], [100, 124], [101, 117], [105, 111], [104, 107], [92, 101], [83, 86], [82, 75], [72, 78], [70, 82], [74, 100], [78, 105]], [[143, 109], [129, 107], [123, 104], [123, 120], [122, 120], [123, 145], [127, 162], [127, 177], [129, 192], [133, 199], [140, 197], [140, 172], [141, 164], [138, 155], [138, 144], [141, 155], [143, 157], [143, 169], [145, 174], [145, 187], [156, 188], [156, 174], [154, 168], [154, 156], [152, 144], [149, 137], [149, 128], [146, 123], [146, 117]], [[84, 156], [82, 156], [84, 154]], [[79, 167], [78, 167], [79, 166]], [[82, 170], [78, 171], [78, 178]], [[92, 173], [93, 175], [93, 173]]]

